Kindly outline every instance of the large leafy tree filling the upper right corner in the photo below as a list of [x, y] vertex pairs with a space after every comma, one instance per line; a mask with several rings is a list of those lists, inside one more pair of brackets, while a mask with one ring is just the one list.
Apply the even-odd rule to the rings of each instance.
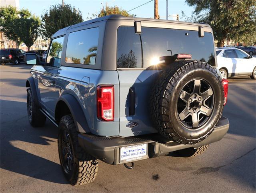
[[186, 0], [195, 6], [194, 15], [188, 20], [210, 24], [218, 47], [225, 39], [252, 44], [256, 41], [255, 0]]

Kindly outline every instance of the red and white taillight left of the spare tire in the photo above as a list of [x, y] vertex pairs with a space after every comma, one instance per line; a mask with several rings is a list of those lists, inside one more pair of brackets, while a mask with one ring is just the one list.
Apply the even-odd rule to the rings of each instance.
[[97, 116], [104, 121], [114, 120], [114, 86], [97, 87]]

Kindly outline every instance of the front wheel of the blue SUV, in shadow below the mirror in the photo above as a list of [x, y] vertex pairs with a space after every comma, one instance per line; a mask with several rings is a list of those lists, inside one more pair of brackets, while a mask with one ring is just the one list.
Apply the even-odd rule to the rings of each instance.
[[46, 116], [40, 111], [40, 108], [34, 102], [31, 89], [28, 89], [28, 93], [27, 93], [27, 112], [28, 112], [28, 121], [33, 127], [44, 126], [46, 121]]

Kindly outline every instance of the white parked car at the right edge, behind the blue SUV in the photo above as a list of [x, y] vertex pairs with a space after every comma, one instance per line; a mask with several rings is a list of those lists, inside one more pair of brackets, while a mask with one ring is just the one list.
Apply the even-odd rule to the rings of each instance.
[[256, 58], [235, 47], [216, 48], [218, 69], [223, 79], [250, 76], [256, 79]]

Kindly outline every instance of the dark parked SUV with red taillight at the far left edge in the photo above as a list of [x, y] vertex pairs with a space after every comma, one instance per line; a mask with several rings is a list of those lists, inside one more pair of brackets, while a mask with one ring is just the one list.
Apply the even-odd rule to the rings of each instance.
[[22, 49], [0, 49], [0, 63], [2, 65], [5, 63], [19, 64], [24, 61], [24, 53]]

